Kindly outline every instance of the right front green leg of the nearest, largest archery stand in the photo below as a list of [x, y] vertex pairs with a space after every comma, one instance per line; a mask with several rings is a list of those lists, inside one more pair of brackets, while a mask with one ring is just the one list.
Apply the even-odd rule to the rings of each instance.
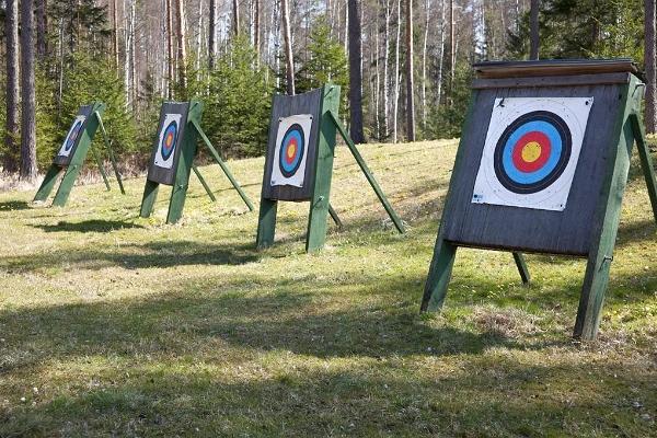
[[596, 215], [592, 221], [589, 222], [592, 244], [573, 332], [575, 338], [593, 339], [600, 323], [634, 142], [634, 132], [629, 116], [634, 107], [638, 105], [641, 99], [638, 97], [637, 102], [633, 102], [629, 96], [633, 84], [631, 83], [620, 90], [621, 99], [616, 104], [620, 107], [619, 114], [613, 123], [609, 120], [612, 130], [607, 137], [607, 143], [611, 153], [607, 154], [606, 165], [599, 169], [604, 178], [599, 192], [597, 192], [599, 195], [593, 198]]

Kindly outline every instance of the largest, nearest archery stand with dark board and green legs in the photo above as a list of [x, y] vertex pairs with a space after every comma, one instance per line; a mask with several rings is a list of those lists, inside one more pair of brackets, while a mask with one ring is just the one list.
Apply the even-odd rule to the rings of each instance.
[[[474, 68], [477, 78], [472, 84], [422, 311], [442, 307], [459, 246], [580, 256], [588, 262], [573, 335], [593, 339], [634, 142], [657, 222], [657, 181], [641, 118], [645, 88], [636, 66], [629, 59], [616, 59], [485, 62]], [[533, 198], [535, 194], [507, 196], [506, 188], [500, 187], [515, 172], [516, 164], [511, 163], [530, 169], [534, 159], [530, 152], [535, 147], [531, 141], [522, 146], [510, 139], [528, 134], [530, 128], [545, 129], [546, 137], [553, 136], [552, 128], [542, 124], [549, 120], [550, 115], [543, 113], [551, 106], [553, 115], [561, 112], [566, 122], [563, 132], [550, 138], [550, 153], [558, 150], [563, 155], [568, 150], [567, 165], [561, 168], [563, 173], [555, 182], [548, 178], [548, 188], [539, 192], [550, 195], [546, 200]], [[528, 128], [522, 120], [517, 123], [521, 117], [535, 124]], [[527, 131], [516, 135], [514, 129]], [[569, 149], [562, 148], [563, 139]], [[515, 154], [514, 148], [520, 147], [522, 154]], [[525, 148], [530, 148], [527, 157]], [[573, 162], [577, 151], [578, 159]], [[496, 171], [486, 173], [488, 169]], [[525, 176], [519, 173], [514, 177]]]

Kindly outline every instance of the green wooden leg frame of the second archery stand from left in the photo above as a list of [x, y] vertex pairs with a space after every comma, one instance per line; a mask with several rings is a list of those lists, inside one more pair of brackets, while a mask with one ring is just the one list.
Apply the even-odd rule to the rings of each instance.
[[[212, 201], [217, 200], [210, 187], [198, 171], [198, 168], [196, 168], [196, 165], [194, 164], [194, 157], [197, 152], [197, 143], [199, 137], [203, 140], [204, 145], [208, 148], [212, 158], [217, 161], [217, 163], [230, 181], [231, 185], [238, 191], [240, 197], [249, 207], [249, 210], [253, 211], [254, 207], [251, 199], [249, 198], [249, 196], [246, 196], [238, 181], [233, 177], [232, 173], [219, 155], [219, 152], [217, 152], [217, 150], [201, 129], [201, 115], [203, 103], [200, 101], [189, 101], [187, 104], [185, 126], [181, 132], [183, 138], [180, 140], [180, 149], [174, 152], [177, 154], [177, 160], [174, 161], [173, 182], [172, 184], [168, 184], [161, 182], [162, 180], [153, 181], [154, 178], [147, 176], [146, 187], [143, 189], [143, 197], [141, 199], [141, 208], [139, 214], [142, 218], [148, 218], [151, 215], [153, 206], [155, 204], [155, 199], [158, 197], [159, 186], [160, 184], [165, 184], [173, 186], [171, 191], [171, 198], [169, 201], [169, 212], [166, 214], [166, 223], [177, 222], [183, 215], [183, 208], [185, 206], [185, 199], [187, 197], [187, 188], [189, 186], [189, 175], [192, 171], [194, 171], [194, 174], [200, 181], [200, 184], [205, 188], [209, 198]], [[158, 140], [155, 140], [155, 143], [158, 143]], [[158, 147], [159, 145], [155, 145], [155, 148]]]

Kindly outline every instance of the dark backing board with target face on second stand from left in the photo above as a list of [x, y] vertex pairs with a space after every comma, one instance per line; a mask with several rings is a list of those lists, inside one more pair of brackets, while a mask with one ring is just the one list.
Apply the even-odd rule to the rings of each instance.
[[[188, 111], [188, 102], [164, 102], [162, 104], [158, 134], [153, 141], [149, 162], [148, 180], [160, 184], [173, 185], [177, 161], [183, 149], [182, 140], [185, 138]], [[173, 136], [169, 145], [169, 153], [166, 153], [168, 135]]]

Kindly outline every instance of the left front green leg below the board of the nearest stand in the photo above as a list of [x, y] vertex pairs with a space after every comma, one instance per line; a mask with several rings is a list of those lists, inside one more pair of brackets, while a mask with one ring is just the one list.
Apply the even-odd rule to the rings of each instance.
[[422, 307], [419, 308], [422, 312], [437, 311], [442, 308], [457, 256], [457, 245], [449, 243], [442, 237], [438, 237], [436, 249], [434, 250], [434, 258], [429, 267], [429, 276], [425, 285]]

